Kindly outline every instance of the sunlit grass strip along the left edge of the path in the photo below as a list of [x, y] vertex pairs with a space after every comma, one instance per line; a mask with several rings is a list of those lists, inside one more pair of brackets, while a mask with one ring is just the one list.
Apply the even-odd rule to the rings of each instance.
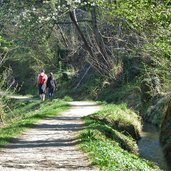
[[[22, 102], [23, 103], [23, 102]], [[40, 119], [56, 116], [69, 108], [69, 105], [62, 100], [30, 102], [20, 104], [13, 112], [13, 119], [0, 128], [0, 146], [12, 142], [26, 128], [33, 127]], [[29, 111], [30, 109], [30, 111]]]

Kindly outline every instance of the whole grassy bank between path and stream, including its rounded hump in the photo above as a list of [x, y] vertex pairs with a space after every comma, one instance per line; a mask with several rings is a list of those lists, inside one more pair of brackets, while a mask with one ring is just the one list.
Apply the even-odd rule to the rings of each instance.
[[135, 139], [114, 124], [122, 123], [125, 128], [134, 125], [139, 129], [138, 116], [125, 105], [107, 105], [102, 111], [85, 117], [84, 121], [87, 127], [80, 134], [81, 148], [89, 153], [93, 164], [101, 170], [160, 170], [152, 162], [138, 157]]

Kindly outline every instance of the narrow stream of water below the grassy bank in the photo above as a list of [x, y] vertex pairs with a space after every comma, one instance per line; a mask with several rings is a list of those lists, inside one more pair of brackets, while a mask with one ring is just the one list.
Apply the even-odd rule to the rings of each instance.
[[166, 162], [164, 157], [159, 142], [159, 129], [156, 126], [144, 123], [138, 147], [141, 157], [153, 161], [164, 171], [171, 171], [171, 165]]

